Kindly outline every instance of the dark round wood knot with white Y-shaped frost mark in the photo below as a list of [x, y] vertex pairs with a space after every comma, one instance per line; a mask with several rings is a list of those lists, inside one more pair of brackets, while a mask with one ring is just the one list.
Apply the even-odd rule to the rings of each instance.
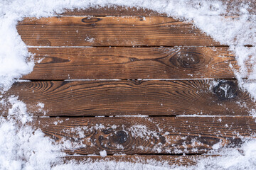
[[213, 87], [213, 93], [221, 100], [232, 99], [238, 95], [238, 86], [233, 81], [220, 81]]

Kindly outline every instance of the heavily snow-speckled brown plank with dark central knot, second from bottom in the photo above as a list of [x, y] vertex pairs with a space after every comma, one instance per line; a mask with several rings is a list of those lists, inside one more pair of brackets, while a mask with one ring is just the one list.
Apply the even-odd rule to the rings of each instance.
[[69, 140], [67, 154], [203, 154], [239, 147], [252, 139], [252, 117], [36, 118], [33, 125], [57, 142]]

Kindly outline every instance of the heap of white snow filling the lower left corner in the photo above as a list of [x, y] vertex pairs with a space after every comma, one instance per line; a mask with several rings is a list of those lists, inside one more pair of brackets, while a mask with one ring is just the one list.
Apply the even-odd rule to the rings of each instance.
[[26, 122], [31, 117], [26, 104], [16, 97], [9, 98], [13, 106], [7, 118], [0, 117], [0, 169], [50, 169], [65, 154], [41, 130], [35, 130]]

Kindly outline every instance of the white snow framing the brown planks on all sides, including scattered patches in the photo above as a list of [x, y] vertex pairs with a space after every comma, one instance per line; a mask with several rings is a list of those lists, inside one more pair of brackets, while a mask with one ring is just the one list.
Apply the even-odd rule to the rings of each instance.
[[[167, 13], [175, 18], [191, 21], [196, 27], [203, 30], [212, 38], [223, 45], [229, 45], [235, 53], [240, 69], [235, 70], [241, 89], [250, 93], [256, 99], [256, 16], [250, 15], [247, 9], [250, 4], [239, 5], [227, 12], [226, 4], [222, 1], [194, 1], [194, 0], [2, 0], [0, 1], [0, 91], [6, 91], [25, 74], [33, 71], [33, 55], [28, 52], [28, 47], [21, 40], [16, 30], [16, 24], [23, 17], [48, 17], [60, 13], [63, 8], [88, 8], [91, 6], [136, 6], [149, 8], [160, 13]], [[231, 16], [239, 13], [238, 17]], [[225, 16], [220, 16], [225, 14]], [[87, 41], [93, 42], [93, 38]], [[252, 45], [247, 47], [245, 45]], [[43, 59], [42, 59], [43, 60]], [[41, 62], [40, 60], [38, 62]], [[233, 68], [233, 65], [230, 64]], [[248, 69], [250, 68], [250, 69]], [[250, 72], [251, 70], [251, 72]], [[244, 79], [247, 78], [247, 79]], [[118, 80], [117, 80], [118, 81]], [[228, 88], [228, 87], [227, 87]], [[224, 91], [227, 89], [223, 89]], [[1, 96], [0, 106], [9, 107], [8, 116], [0, 117], [0, 169], [255, 169], [256, 168], [256, 141], [246, 141], [239, 152], [238, 149], [221, 149], [218, 154], [221, 157], [201, 159], [196, 166], [169, 166], [164, 162], [68, 162], [64, 164], [60, 157], [65, 148], [73, 148], [70, 141], [56, 143], [45, 137], [39, 129], [33, 129], [28, 123], [33, 122], [33, 113], [28, 113], [26, 104], [18, 100], [18, 96]], [[43, 111], [44, 105], [38, 101], [37, 106]], [[255, 108], [250, 115], [254, 116]], [[221, 119], [220, 119], [221, 121]], [[55, 122], [56, 124], [61, 122]], [[227, 125], [228, 126], [228, 125]], [[103, 125], [95, 126], [95, 129], [105, 128]], [[81, 129], [77, 129], [80, 136]], [[138, 137], [155, 135], [144, 125], [135, 125], [131, 128]], [[79, 144], [78, 144], [79, 146]], [[78, 147], [76, 146], [76, 147]], [[214, 145], [219, 149], [219, 145]], [[156, 148], [157, 149], [157, 148]], [[106, 156], [106, 151], [100, 155]], [[54, 164], [53, 164], [54, 163]]]

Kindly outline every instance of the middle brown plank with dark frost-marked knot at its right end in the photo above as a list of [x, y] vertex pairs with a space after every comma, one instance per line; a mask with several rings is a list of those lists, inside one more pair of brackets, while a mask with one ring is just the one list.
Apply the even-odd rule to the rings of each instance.
[[[236, 81], [32, 81], [16, 95], [34, 115], [248, 115], [255, 106]], [[2, 108], [3, 109], [3, 108]]]

